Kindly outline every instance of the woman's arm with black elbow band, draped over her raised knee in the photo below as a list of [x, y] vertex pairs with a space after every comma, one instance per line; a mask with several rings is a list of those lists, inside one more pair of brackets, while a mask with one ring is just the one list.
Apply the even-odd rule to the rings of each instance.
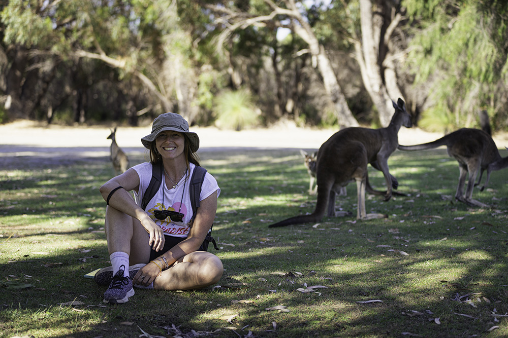
[[148, 245], [152, 246], [155, 251], [159, 251], [164, 247], [164, 233], [161, 227], [157, 226], [150, 216], [132, 198], [130, 191], [139, 190], [139, 175], [136, 170], [129, 168], [124, 173], [111, 178], [104, 183], [99, 191], [102, 197], [107, 201], [109, 194], [118, 186], [123, 189], [116, 190], [109, 198], [109, 208], [115, 208], [131, 217], [138, 219], [141, 226], [145, 228], [149, 234]]

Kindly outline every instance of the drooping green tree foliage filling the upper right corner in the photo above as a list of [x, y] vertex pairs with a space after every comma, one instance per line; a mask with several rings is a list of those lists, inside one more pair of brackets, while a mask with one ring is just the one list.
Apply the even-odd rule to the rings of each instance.
[[476, 126], [487, 110], [494, 126], [508, 118], [508, 3], [497, 0], [404, 0], [415, 27], [408, 66], [432, 84], [420, 125]]

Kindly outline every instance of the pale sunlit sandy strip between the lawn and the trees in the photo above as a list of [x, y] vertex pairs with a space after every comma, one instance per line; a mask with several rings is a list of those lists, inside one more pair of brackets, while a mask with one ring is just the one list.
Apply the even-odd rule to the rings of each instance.
[[[129, 155], [145, 154], [141, 137], [150, 133], [151, 126], [119, 127], [117, 143]], [[298, 128], [289, 123], [271, 128], [231, 131], [214, 127], [192, 127], [200, 137], [200, 152], [224, 151], [241, 148], [294, 148], [317, 149], [337, 129]], [[110, 129], [102, 126], [55, 126], [33, 121], [16, 121], [0, 125], [0, 167], [13, 167], [23, 160], [76, 160], [79, 158], [103, 158], [109, 156], [111, 141], [106, 137]], [[440, 133], [428, 133], [418, 128], [399, 131], [400, 144], [417, 144], [435, 140]], [[499, 148], [508, 145], [508, 135], [495, 135]], [[14, 163], [13, 163], [14, 162]]]

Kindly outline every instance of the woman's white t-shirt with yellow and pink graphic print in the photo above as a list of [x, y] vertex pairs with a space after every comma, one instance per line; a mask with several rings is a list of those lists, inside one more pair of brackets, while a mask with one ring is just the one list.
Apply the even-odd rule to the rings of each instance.
[[[164, 231], [164, 234], [174, 236], [174, 237], [187, 237], [189, 233], [189, 222], [192, 219], [192, 206], [190, 205], [190, 194], [189, 194], [189, 185], [190, 185], [190, 177], [194, 172], [194, 168], [196, 165], [190, 163], [190, 174], [184, 175], [182, 179], [178, 182], [178, 185], [175, 189], [168, 189], [166, 187], [166, 178], [163, 175], [163, 180], [159, 190], [153, 196], [153, 198], [148, 202], [146, 206], [146, 211], [153, 219], [153, 221], [161, 227]], [[143, 195], [150, 184], [150, 179], [152, 178], [152, 164], [150, 162], [145, 162], [138, 164], [133, 167], [134, 170], [139, 175], [139, 192], [134, 193], [134, 198], [136, 203], [141, 206], [141, 201], [143, 200]], [[170, 184], [170, 187], [173, 184]], [[214, 192], [217, 192], [217, 198], [220, 194], [220, 188], [217, 185], [217, 181], [210, 174], [206, 173], [205, 179], [203, 180], [203, 185], [201, 186], [201, 194], [199, 196], [199, 200], [202, 201]], [[164, 194], [164, 205], [163, 205], [163, 194]], [[174, 222], [169, 217], [164, 220], [160, 220], [155, 218], [153, 214], [154, 210], [172, 210], [176, 212], [181, 212], [184, 214], [181, 222]]]

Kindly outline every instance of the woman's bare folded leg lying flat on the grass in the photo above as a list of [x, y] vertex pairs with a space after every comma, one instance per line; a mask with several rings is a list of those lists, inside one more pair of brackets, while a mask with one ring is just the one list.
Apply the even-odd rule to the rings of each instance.
[[158, 290], [192, 290], [215, 284], [224, 272], [220, 259], [212, 253], [195, 251], [185, 255], [155, 278]]

